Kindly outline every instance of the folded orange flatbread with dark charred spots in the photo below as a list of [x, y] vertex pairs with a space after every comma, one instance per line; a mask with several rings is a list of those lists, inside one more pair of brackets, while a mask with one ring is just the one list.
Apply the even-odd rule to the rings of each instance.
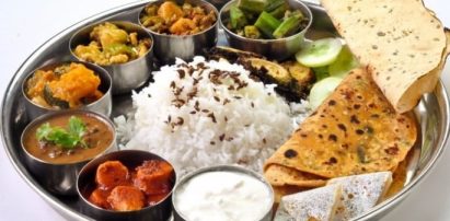
[[414, 116], [397, 114], [367, 70], [355, 69], [264, 170], [267, 175], [272, 165], [280, 165], [325, 178], [393, 171], [416, 137]]

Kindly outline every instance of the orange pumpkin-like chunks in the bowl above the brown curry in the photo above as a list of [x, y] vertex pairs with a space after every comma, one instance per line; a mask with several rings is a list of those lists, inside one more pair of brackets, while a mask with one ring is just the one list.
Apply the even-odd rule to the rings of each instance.
[[49, 70], [37, 70], [25, 83], [26, 96], [47, 108], [78, 108], [100, 100], [101, 79], [83, 63], [62, 63]]

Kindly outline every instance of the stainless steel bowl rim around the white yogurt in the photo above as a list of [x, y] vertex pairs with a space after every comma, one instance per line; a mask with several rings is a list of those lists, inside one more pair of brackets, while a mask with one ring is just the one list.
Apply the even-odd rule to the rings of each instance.
[[[177, 205], [176, 205], [176, 197], [177, 197], [177, 193], [180, 191], [181, 187], [183, 187], [183, 185], [185, 185], [187, 182], [189, 182], [195, 176], [200, 175], [200, 174], [205, 174], [205, 173], [209, 173], [209, 172], [233, 172], [233, 173], [244, 174], [244, 175], [249, 175], [251, 177], [254, 177], [257, 181], [259, 181], [261, 183], [263, 183], [267, 187], [267, 190], [269, 191], [269, 195], [272, 196], [272, 199], [270, 199], [272, 203], [269, 203], [270, 206], [267, 208], [266, 213], [259, 219], [259, 221], [270, 221], [272, 220], [272, 217], [273, 217], [273, 207], [272, 207], [272, 205], [274, 205], [274, 201], [275, 201], [274, 189], [272, 188], [270, 184], [261, 174], [257, 174], [253, 171], [246, 170], [246, 168], [244, 168], [242, 166], [238, 166], [238, 165], [216, 165], [216, 166], [209, 166], [209, 167], [204, 167], [204, 168], [196, 170], [196, 171], [187, 174], [186, 176], [184, 176], [175, 185], [173, 194], [172, 194], [172, 206], [173, 206], [174, 221], [187, 221], [188, 220], [177, 209]], [[193, 202], [193, 203], [195, 203], [195, 202]], [[251, 210], [252, 208], [247, 208], [247, 209]]]

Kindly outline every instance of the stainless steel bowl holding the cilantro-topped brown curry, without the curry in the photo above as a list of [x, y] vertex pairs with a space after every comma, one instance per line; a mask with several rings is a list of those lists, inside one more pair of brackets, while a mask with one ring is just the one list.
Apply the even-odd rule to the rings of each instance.
[[48, 113], [30, 123], [23, 130], [21, 136], [21, 146], [26, 166], [37, 179], [37, 182], [39, 182], [47, 190], [58, 195], [77, 195], [77, 175], [84, 166], [84, 164], [86, 164], [92, 159], [70, 164], [54, 164], [43, 161], [26, 151], [24, 146], [24, 136], [32, 128], [37, 127], [38, 125], [53, 117], [76, 114], [88, 114], [90, 116], [93, 116], [106, 124], [111, 128], [111, 131], [113, 131], [113, 142], [100, 154], [117, 150], [114, 124], [105, 116], [88, 111], [76, 109]]

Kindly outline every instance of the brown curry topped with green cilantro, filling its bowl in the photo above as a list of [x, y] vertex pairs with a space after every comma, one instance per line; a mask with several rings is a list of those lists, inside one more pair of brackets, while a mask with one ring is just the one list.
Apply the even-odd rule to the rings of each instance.
[[64, 113], [26, 128], [22, 146], [50, 164], [71, 164], [95, 158], [114, 142], [114, 129], [93, 114]]

